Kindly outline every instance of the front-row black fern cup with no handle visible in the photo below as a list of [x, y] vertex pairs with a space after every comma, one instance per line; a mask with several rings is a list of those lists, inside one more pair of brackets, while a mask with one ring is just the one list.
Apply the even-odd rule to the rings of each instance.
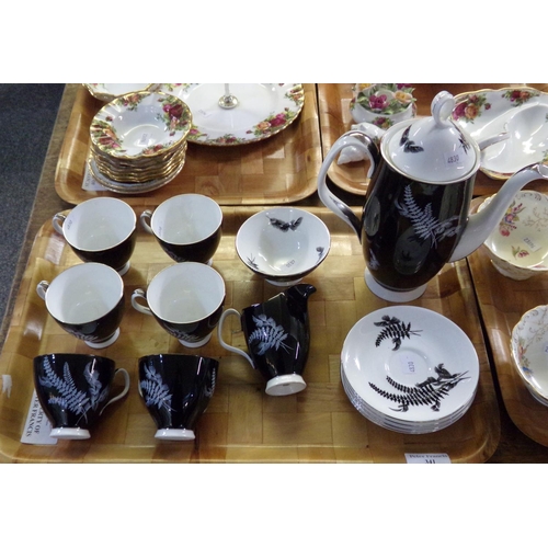
[[139, 395], [158, 439], [194, 439], [215, 391], [219, 363], [210, 357], [155, 354], [139, 358]]

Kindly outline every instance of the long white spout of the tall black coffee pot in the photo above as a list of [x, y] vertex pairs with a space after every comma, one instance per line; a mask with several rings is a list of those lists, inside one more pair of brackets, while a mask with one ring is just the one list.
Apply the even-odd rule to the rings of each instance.
[[473, 214], [453, 251], [449, 262], [459, 261], [476, 251], [488, 238], [512, 203], [516, 192], [535, 180], [548, 181], [548, 165], [534, 163], [512, 175], [493, 196], [490, 204], [481, 212]]

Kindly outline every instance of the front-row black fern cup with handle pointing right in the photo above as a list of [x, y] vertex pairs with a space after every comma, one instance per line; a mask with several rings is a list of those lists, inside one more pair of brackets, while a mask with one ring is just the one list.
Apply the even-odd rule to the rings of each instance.
[[[34, 358], [36, 396], [52, 423], [52, 437], [88, 439], [105, 407], [129, 390], [129, 375], [109, 357], [54, 353]], [[114, 377], [124, 377], [123, 390], [110, 398]]]

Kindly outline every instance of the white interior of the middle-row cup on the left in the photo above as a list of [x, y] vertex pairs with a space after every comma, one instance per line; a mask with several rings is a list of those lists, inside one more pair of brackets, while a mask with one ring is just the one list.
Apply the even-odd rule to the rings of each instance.
[[110, 266], [82, 263], [61, 272], [46, 292], [49, 313], [64, 323], [81, 324], [110, 312], [124, 294], [124, 282]]

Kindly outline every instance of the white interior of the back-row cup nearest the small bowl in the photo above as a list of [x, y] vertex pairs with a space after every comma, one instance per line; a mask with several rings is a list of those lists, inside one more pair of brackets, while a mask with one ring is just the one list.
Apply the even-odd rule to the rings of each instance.
[[202, 194], [181, 194], [162, 202], [152, 214], [150, 228], [168, 243], [185, 244], [212, 236], [222, 222], [222, 212]]

